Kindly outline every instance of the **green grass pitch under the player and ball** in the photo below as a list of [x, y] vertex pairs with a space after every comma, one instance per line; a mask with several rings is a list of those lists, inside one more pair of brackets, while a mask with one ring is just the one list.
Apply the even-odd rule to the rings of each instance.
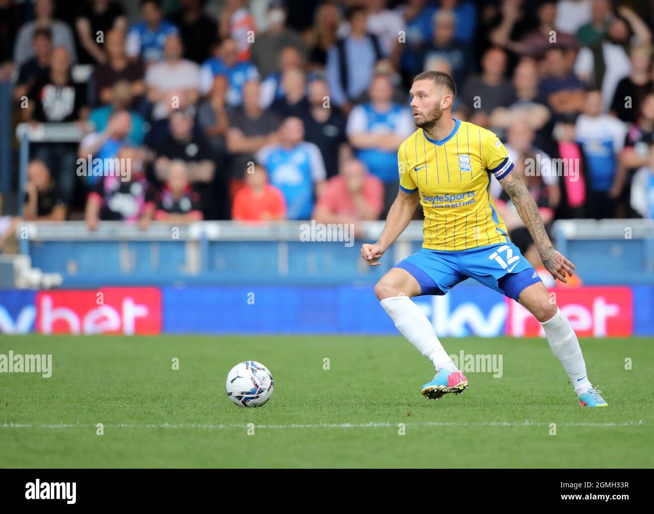
[[[652, 339], [581, 341], [604, 409], [579, 407], [545, 339], [443, 344], [502, 354], [503, 376], [467, 373], [464, 394], [426, 400], [434, 371], [399, 335], [3, 335], [0, 354], [52, 354], [53, 371], [0, 373], [0, 466], [654, 466]], [[224, 381], [250, 359], [271, 370], [275, 391], [239, 409]]]

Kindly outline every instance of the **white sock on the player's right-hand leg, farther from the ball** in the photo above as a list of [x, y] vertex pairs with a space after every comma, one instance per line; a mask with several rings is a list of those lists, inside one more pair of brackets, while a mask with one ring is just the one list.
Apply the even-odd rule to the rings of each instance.
[[572, 330], [570, 321], [557, 307], [557, 313], [541, 324], [543, 330], [545, 330], [549, 347], [557, 356], [557, 359], [560, 360], [566, 373], [568, 373], [577, 396], [581, 396], [593, 385], [588, 380], [586, 363], [583, 362], [583, 355], [579, 347], [579, 339]]

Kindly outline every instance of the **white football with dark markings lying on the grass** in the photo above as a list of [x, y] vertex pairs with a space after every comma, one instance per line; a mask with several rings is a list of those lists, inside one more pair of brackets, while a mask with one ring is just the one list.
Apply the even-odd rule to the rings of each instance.
[[239, 407], [261, 407], [273, 396], [273, 375], [259, 362], [240, 362], [227, 374], [227, 396]]

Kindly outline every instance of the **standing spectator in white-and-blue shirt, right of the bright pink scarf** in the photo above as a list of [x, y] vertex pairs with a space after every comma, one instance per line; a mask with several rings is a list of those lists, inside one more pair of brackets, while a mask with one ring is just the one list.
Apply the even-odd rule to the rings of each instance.
[[616, 180], [618, 158], [625, 143], [625, 124], [602, 114], [602, 94], [589, 91], [583, 114], [577, 118], [575, 139], [587, 163], [587, 207], [592, 218], [613, 218], [621, 185]]

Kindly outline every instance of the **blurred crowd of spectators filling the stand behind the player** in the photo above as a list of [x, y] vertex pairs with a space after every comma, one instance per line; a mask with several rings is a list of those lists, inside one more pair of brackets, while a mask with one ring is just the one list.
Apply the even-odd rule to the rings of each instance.
[[[649, 0], [127, 8], [0, 0], [15, 121], [83, 134], [31, 145], [27, 220], [383, 218], [415, 130], [408, 90], [426, 69], [455, 78], [453, 116], [498, 134], [545, 222], [654, 218]], [[115, 159], [128, 177], [108, 171]], [[492, 192], [519, 228], [496, 181]]]

